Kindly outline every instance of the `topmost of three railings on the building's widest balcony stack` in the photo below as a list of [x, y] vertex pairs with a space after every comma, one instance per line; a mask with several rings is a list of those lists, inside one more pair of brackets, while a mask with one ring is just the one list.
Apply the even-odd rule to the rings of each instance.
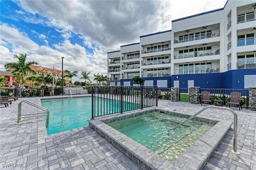
[[220, 31], [218, 30], [218, 31], [213, 31], [213, 32], [195, 34], [192, 36], [185, 36], [182, 38], [174, 38], [174, 43], [190, 42], [190, 41], [202, 40], [202, 39], [206, 39], [206, 38], [214, 38], [214, 37], [219, 37], [219, 36], [220, 36]]

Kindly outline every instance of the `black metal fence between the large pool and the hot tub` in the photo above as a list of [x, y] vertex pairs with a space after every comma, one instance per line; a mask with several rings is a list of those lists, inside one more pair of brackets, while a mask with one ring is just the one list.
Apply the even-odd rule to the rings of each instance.
[[92, 119], [157, 106], [157, 86], [93, 86]]

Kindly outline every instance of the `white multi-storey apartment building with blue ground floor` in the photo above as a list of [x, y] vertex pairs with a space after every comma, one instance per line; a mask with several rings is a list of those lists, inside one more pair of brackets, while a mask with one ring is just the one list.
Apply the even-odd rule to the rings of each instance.
[[132, 77], [158, 87], [244, 89], [256, 86], [256, 2], [173, 20], [172, 30], [140, 36], [108, 53], [110, 85]]

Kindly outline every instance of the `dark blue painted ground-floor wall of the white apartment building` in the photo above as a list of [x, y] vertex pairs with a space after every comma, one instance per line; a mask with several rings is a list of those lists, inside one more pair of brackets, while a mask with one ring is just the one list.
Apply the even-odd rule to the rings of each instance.
[[[224, 73], [186, 74], [172, 75], [172, 77], [142, 78], [144, 80], [153, 80], [154, 85], [157, 85], [157, 80], [167, 80], [168, 87], [173, 87], [173, 81], [179, 80], [180, 88], [188, 88], [188, 80], [194, 80], [195, 87], [205, 89], [244, 89], [244, 75], [256, 75], [256, 69], [237, 69], [226, 71]], [[176, 78], [177, 76], [178, 79]], [[121, 79], [120, 84], [124, 85], [124, 81], [130, 81], [132, 85], [132, 79]]]

